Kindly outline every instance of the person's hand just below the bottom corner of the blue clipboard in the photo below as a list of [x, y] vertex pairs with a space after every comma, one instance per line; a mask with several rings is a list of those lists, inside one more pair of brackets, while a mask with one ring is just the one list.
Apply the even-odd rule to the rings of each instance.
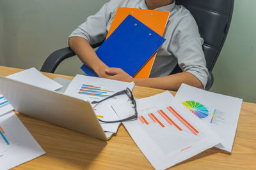
[[111, 74], [112, 75], [112, 76], [108, 77], [111, 80], [119, 80], [119, 81], [126, 81], [126, 82], [134, 81], [132, 76], [125, 73], [125, 71], [120, 69], [120, 68], [110, 67], [108, 69], [105, 69], [105, 71], [106, 71], [106, 74]]

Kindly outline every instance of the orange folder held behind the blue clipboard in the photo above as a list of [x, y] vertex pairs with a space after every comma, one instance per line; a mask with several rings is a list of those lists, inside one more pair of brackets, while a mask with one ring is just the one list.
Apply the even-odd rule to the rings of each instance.
[[[118, 25], [121, 24], [129, 14], [140, 20], [140, 22], [147, 25], [153, 31], [157, 32], [160, 36], [163, 36], [170, 12], [118, 7], [106, 38], [115, 31]], [[134, 78], [148, 78], [155, 58], [156, 53], [148, 60], [147, 63], [145, 63], [143, 67], [141, 67], [140, 71], [135, 74]]]

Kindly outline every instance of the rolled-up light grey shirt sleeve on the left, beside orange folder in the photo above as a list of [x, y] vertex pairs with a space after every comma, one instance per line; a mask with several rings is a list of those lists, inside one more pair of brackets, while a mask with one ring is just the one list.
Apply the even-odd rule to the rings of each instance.
[[86, 19], [86, 21], [79, 25], [69, 36], [83, 37], [88, 40], [90, 44], [103, 41], [108, 34], [106, 29], [110, 19], [111, 12], [109, 11], [109, 4], [106, 3], [95, 14]]

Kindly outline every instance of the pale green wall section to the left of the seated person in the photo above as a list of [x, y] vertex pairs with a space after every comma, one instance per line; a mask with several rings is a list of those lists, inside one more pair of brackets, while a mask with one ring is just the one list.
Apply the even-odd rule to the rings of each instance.
[[[0, 65], [40, 69], [55, 50], [68, 46], [77, 25], [109, 0], [0, 0]], [[56, 73], [82, 73], [77, 57], [65, 60]]]

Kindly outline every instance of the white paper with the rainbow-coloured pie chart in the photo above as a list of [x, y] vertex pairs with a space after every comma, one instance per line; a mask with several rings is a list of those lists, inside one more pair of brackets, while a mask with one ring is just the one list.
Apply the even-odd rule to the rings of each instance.
[[212, 127], [223, 139], [221, 145], [216, 147], [227, 152], [232, 151], [243, 99], [208, 92], [186, 84], [180, 86], [175, 99], [197, 113], [200, 120]]

